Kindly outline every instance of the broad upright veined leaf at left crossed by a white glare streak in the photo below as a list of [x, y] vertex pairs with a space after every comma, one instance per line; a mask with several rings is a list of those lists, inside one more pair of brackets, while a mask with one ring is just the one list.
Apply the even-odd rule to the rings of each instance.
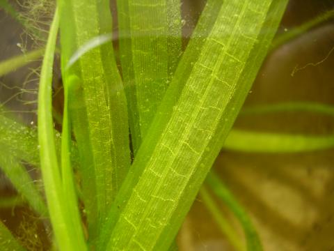
[[[87, 161], [81, 162], [83, 195], [90, 238], [95, 238], [96, 224], [105, 220], [130, 165], [127, 104], [111, 41], [92, 46], [112, 32], [109, 1], [59, 0], [58, 3], [64, 85], [71, 79], [77, 79], [79, 85], [77, 94], [72, 96], [70, 116], [80, 156], [86, 155]], [[72, 56], [86, 47], [91, 50], [72, 63]]]

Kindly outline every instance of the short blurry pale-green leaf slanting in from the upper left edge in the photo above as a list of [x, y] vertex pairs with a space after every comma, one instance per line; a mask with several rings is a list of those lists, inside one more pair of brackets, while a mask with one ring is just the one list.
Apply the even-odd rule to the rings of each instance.
[[39, 59], [44, 54], [44, 48], [27, 52], [26, 54], [14, 56], [0, 62], [0, 77], [17, 70], [27, 63]]

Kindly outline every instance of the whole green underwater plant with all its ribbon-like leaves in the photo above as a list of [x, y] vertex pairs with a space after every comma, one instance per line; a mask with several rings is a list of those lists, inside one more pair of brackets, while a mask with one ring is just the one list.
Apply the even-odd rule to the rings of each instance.
[[[0, 206], [29, 204], [47, 232], [41, 250], [177, 250], [175, 238], [199, 195], [235, 250], [262, 250], [248, 213], [210, 169], [221, 149], [301, 153], [334, 146], [333, 135], [232, 129], [239, 114], [333, 116], [333, 107], [316, 102], [241, 109], [267, 54], [333, 12], [273, 40], [287, 0], [207, 0], [186, 41], [180, 0], [117, 0], [113, 13], [106, 0], [50, 2], [35, 1], [54, 8], [43, 42], [45, 31], [29, 15], [0, 0], [38, 45], [45, 43], [0, 63], [2, 76], [42, 56], [37, 126], [20, 122], [6, 102], [0, 107], [0, 167], [22, 197]], [[58, 56], [61, 112], [53, 93]], [[0, 245], [38, 249], [15, 238], [6, 222]]]

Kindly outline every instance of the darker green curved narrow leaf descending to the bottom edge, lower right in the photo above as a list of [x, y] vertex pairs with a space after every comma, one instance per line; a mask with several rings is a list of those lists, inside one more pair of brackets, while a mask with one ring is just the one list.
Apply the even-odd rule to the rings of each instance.
[[225, 187], [223, 181], [221, 181], [218, 176], [212, 171], [209, 172], [209, 174], [207, 175], [206, 183], [207, 185], [209, 185], [210, 188], [212, 188], [212, 191], [217, 195], [217, 197], [220, 198], [238, 218], [246, 236], [247, 250], [262, 250], [260, 238], [257, 235], [257, 231], [253, 227], [253, 223], [251, 222], [247, 213], [244, 211], [244, 208], [239, 205], [238, 201], [234, 199], [232, 193], [228, 190], [228, 188]]

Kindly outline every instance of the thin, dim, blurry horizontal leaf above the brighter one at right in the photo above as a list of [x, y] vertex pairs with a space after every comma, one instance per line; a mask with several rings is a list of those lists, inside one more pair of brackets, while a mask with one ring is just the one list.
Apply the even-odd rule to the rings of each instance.
[[252, 105], [241, 109], [242, 115], [271, 114], [275, 112], [310, 112], [334, 116], [333, 105], [319, 102], [280, 102], [270, 105]]

